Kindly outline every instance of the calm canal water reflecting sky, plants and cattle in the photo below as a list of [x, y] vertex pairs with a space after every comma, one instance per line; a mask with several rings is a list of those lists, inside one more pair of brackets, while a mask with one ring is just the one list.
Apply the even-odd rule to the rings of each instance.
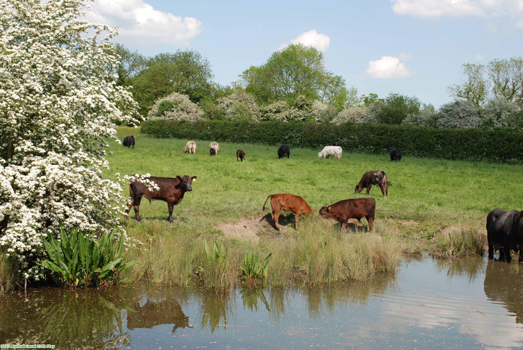
[[403, 262], [395, 274], [313, 287], [133, 284], [31, 288], [0, 299], [0, 344], [56, 348], [523, 347], [523, 265]]

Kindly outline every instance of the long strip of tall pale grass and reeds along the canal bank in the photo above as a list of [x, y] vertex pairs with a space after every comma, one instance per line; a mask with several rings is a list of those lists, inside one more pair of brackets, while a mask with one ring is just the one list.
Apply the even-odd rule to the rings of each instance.
[[362, 280], [393, 271], [403, 251], [394, 237], [347, 231], [313, 216], [300, 221], [300, 231], [266, 234], [258, 242], [178, 230], [155, 236], [129, 256], [138, 259], [131, 280], [184, 285], [192, 279], [221, 289], [241, 279], [267, 279], [273, 286]]

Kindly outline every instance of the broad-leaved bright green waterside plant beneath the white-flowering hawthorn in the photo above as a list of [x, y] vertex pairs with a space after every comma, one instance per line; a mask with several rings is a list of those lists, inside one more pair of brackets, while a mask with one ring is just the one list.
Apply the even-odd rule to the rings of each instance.
[[123, 235], [118, 246], [113, 244], [115, 233], [102, 233], [98, 240], [75, 229], [67, 236], [60, 229], [60, 242], [47, 233], [43, 240], [50, 259], [37, 262], [48, 269], [54, 281], [62, 287], [74, 288], [78, 284], [88, 287], [112, 285], [118, 282], [119, 274], [136, 261], [126, 264], [123, 259]]

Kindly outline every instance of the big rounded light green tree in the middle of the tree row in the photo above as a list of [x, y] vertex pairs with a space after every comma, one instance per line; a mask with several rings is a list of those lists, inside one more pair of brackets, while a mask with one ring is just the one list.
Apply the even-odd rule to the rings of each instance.
[[249, 67], [240, 77], [245, 91], [263, 105], [281, 99], [293, 104], [299, 95], [343, 104], [338, 96], [347, 92], [343, 78], [325, 69], [323, 54], [301, 43], [274, 52], [265, 64]]

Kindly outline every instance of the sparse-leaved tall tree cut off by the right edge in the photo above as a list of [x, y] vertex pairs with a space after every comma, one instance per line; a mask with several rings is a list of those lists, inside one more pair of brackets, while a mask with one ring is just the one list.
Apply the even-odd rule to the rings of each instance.
[[487, 72], [496, 98], [506, 99], [520, 108], [523, 107], [523, 59], [514, 57], [490, 61]]

